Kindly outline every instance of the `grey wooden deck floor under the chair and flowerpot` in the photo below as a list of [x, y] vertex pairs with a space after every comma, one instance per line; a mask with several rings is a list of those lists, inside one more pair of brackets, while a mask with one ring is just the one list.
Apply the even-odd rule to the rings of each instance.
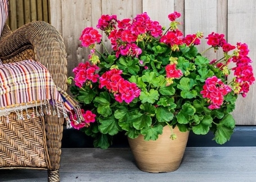
[[[156, 154], [157, 155], [157, 154]], [[142, 172], [129, 148], [63, 148], [61, 181], [256, 181], [256, 147], [187, 147], [177, 171]], [[0, 170], [0, 181], [47, 181], [45, 170]]]

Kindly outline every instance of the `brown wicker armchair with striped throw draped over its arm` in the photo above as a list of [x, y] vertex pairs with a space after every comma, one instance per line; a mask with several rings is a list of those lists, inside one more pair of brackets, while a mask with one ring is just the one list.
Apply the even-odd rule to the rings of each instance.
[[[50, 24], [35, 21], [12, 32], [7, 25], [0, 38], [3, 63], [33, 59], [66, 90], [67, 60], [63, 40]], [[28, 109], [32, 114], [33, 109]], [[24, 113], [25, 114], [25, 113]], [[46, 169], [48, 181], [60, 181], [59, 166], [64, 116], [35, 116], [19, 120], [15, 113], [0, 116], [0, 169]]]

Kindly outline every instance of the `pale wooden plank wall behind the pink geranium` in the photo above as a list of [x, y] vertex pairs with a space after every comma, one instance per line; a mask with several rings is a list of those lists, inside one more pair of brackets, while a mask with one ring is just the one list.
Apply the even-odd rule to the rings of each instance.
[[[229, 43], [247, 43], [256, 72], [255, 6], [254, 0], [247, 0], [246, 3], [240, 0], [51, 0], [51, 23], [64, 38], [69, 76], [73, 76], [72, 69], [79, 62], [84, 62], [88, 56], [88, 50], [82, 48], [79, 41], [82, 30], [87, 26], [96, 27], [102, 14], [115, 14], [122, 19], [147, 12], [152, 20], [168, 26], [167, 16], [173, 11], [181, 12], [181, 30], [185, 34], [202, 31], [207, 36], [214, 31], [224, 34]], [[205, 48], [206, 44], [203, 43], [200, 50]], [[206, 55], [211, 58], [221, 57], [215, 53]], [[246, 99], [239, 98], [236, 111], [233, 112], [236, 124], [256, 124], [255, 97], [254, 85]]]

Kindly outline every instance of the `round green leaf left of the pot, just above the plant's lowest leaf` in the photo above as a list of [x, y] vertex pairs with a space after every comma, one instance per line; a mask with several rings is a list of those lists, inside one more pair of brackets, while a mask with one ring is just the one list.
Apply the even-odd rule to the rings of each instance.
[[98, 118], [98, 122], [100, 123], [98, 129], [103, 134], [110, 134], [111, 136], [114, 136], [120, 131], [120, 127], [115, 121], [114, 116], [110, 116], [107, 118]]

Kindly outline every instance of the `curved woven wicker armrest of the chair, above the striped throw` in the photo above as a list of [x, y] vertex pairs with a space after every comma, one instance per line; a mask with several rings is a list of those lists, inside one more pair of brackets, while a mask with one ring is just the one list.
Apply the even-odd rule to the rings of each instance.
[[3, 63], [33, 59], [50, 71], [56, 86], [66, 90], [67, 60], [64, 41], [52, 25], [34, 21], [11, 32], [5, 25], [0, 38]]

